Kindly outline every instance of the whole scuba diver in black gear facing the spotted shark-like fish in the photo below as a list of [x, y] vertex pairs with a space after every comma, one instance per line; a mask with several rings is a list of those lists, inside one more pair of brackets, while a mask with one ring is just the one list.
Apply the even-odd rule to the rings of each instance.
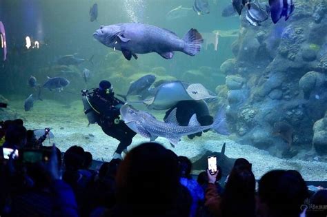
[[[119, 145], [112, 158], [121, 158], [127, 152], [136, 133], [119, 119], [119, 109], [125, 102], [117, 99], [109, 81], [103, 80], [99, 88], [82, 90], [84, 113], [90, 123], [97, 123], [108, 136], [116, 138]], [[92, 91], [92, 92], [90, 92]]]

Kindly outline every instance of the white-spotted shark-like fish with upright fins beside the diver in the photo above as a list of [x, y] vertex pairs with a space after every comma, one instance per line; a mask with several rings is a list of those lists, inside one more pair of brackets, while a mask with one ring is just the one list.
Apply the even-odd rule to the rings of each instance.
[[164, 137], [170, 141], [170, 144], [176, 145], [181, 136], [187, 136], [212, 129], [219, 134], [228, 135], [226, 124], [225, 107], [221, 107], [217, 113], [212, 125], [201, 126], [197, 121], [197, 115], [193, 114], [188, 126], [179, 126], [176, 118], [176, 108], [170, 112], [165, 122], [158, 121], [155, 116], [144, 111], [135, 110], [127, 103], [120, 108], [120, 114], [123, 121], [131, 130], [137, 132], [143, 137], [155, 141], [157, 137]]

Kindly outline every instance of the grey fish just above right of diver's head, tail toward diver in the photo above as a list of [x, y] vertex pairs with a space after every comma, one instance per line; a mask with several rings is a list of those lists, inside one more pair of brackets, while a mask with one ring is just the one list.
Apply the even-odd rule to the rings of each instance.
[[155, 82], [156, 76], [153, 74], [146, 74], [144, 76], [141, 76], [141, 78], [137, 79], [137, 81], [134, 81], [131, 85], [130, 88], [128, 88], [128, 92], [127, 94], [124, 95], [120, 95], [117, 94], [121, 97], [123, 97], [123, 99], [127, 99], [127, 96], [131, 96], [131, 95], [139, 95], [142, 94], [142, 92], [144, 90], [148, 90], [150, 88], [150, 86], [152, 85], [152, 83]]

